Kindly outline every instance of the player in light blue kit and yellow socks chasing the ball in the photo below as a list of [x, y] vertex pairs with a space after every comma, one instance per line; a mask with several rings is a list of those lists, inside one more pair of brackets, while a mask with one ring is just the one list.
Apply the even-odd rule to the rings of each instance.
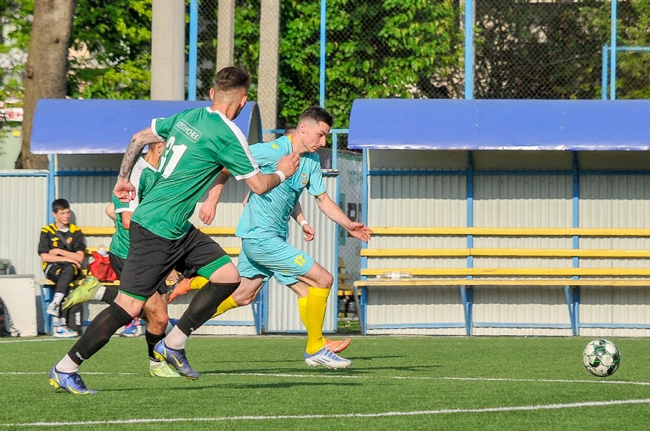
[[[316, 150], [325, 146], [331, 125], [331, 114], [314, 106], [303, 112], [297, 130], [290, 136], [250, 147], [262, 172], [273, 172], [281, 157], [292, 152], [300, 154], [300, 165], [293, 177], [281, 186], [261, 195], [250, 195], [236, 232], [237, 237], [242, 238], [242, 252], [239, 253], [237, 262], [242, 283], [231, 297], [219, 305], [216, 314], [250, 303], [264, 281], [275, 277], [279, 283], [288, 285], [298, 294], [300, 317], [307, 328], [304, 353], [307, 365], [346, 368], [351, 361], [335, 354], [335, 351], [342, 349], [327, 348], [322, 333], [333, 276], [309, 254], [286, 242], [292, 214], [301, 223], [304, 233], [313, 236], [313, 229], [308, 226], [297, 205], [300, 194], [305, 189], [317, 199], [319, 209], [335, 223], [342, 225], [353, 237], [366, 242], [371, 237], [372, 231], [363, 223], [348, 219], [326, 192]], [[211, 221], [210, 217], [214, 217], [227, 178], [223, 172], [219, 174], [215, 187], [210, 190], [208, 199], [201, 208], [204, 222]], [[206, 214], [208, 219], [205, 219]]]

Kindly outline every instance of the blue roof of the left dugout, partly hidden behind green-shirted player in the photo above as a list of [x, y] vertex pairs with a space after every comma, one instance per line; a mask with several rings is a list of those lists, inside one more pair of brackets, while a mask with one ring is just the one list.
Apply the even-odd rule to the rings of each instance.
[[[39, 99], [32, 126], [32, 152], [37, 154], [122, 153], [131, 137], [151, 120], [210, 101]], [[261, 139], [259, 107], [247, 102], [235, 119], [246, 139]]]

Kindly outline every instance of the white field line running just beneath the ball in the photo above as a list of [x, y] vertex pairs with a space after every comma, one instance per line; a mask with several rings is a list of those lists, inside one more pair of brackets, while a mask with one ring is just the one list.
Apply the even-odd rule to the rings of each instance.
[[[0, 371], [1, 375], [45, 375], [44, 371]], [[82, 372], [83, 375], [92, 376], [138, 376], [148, 374], [146, 372]], [[624, 380], [569, 380], [569, 379], [506, 379], [501, 377], [426, 377], [426, 376], [351, 376], [346, 374], [288, 374], [288, 373], [266, 373], [266, 372], [204, 372], [202, 376], [253, 376], [253, 377], [286, 377], [299, 379], [396, 379], [396, 380], [457, 380], [457, 381], [497, 381], [497, 382], [531, 382], [531, 383], [596, 383], [609, 385], [635, 385], [650, 386], [649, 381], [624, 381]]]

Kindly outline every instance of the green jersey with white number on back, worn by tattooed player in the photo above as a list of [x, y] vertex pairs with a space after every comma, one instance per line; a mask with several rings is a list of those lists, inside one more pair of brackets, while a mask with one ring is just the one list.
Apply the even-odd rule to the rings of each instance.
[[186, 234], [201, 194], [224, 167], [236, 179], [259, 172], [244, 133], [221, 112], [186, 110], [153, 119], [151, 130], [167, 145], [153, 188], [132, 221], [159, 237], [179, 239]]

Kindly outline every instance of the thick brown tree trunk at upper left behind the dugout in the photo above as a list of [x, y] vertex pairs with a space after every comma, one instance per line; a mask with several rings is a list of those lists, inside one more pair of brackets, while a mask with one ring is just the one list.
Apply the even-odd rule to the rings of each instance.
[[23, 146], [17, 168], [47, 168], [47, 159], [30, 152], [38, 99], [66, 97], [66, 72], [72, 19], [77, 0], [35, 0], [34, 22], [25, 68]]

